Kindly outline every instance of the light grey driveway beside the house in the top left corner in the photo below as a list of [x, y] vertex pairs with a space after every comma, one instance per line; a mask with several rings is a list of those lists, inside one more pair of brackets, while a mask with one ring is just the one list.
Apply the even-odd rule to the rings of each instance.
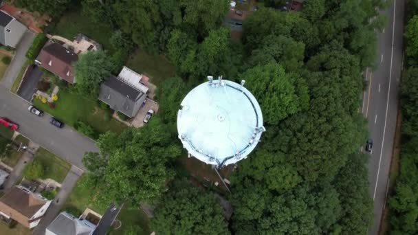
[[14, 57], [10, 62], [8, 69], [5, 71], [3, 79], [1, 80], [3, 86], [6, 87], [8, 90], [12, 88], [14, 79], [17, 77], [19, 71], [21, 70], [21, 67], [25, 63], [25, 54], [26, 52], [28, 52], [30, 45], [32, 45], [34, 38], [34, 32], [28, 30], [25, 32], [25, 34], [23, 34], [20, 43], [17, 45]]

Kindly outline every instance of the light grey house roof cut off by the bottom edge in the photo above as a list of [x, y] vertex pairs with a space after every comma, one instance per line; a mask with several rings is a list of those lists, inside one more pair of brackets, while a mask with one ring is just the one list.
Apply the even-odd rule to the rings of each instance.
[[96, 226], [85, 220], [80, 220], [67, 212], [61, 212], [48, 225], [45, 235], [89, 235]]

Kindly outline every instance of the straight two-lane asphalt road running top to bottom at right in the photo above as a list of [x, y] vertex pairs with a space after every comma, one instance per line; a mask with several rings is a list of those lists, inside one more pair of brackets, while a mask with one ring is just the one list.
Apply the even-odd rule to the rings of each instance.
[[369, 234], [378, 234], [386, 204], [402, 66], [404, 4], [403, 0], [394, 0], [391, 7], [382, 12], [388, 21], [383, 32], [378, 34], [377, 69], [366, 71], [369, 87], [364, 93], [362, 112], [369, 120], [370, 138], [373, 139], [369, 182], [374, 216]]

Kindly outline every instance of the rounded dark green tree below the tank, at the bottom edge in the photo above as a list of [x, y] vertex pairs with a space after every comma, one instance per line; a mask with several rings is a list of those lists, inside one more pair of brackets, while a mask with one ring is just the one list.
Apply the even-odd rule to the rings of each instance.
[[151, 228], [157, 234], [230, 234], [214, 195], [186, 180], [175, 181], [164, 194]]

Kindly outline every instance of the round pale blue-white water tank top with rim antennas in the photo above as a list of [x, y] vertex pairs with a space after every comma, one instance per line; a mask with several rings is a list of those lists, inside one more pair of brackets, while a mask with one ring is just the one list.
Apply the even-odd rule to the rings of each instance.
[[221, 167], [247, 157], [265, 128], [250, 91], [236, 82], [210, 79], [181, 102], [177, 131], [190, 155]]

